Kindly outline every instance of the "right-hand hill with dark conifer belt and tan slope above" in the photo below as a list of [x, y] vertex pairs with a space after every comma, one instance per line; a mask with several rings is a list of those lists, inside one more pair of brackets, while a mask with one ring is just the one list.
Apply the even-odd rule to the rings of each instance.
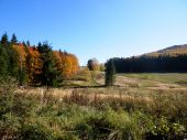
[[175, 45], [140, 56], [111, 60], [117, 73], [187, 72], [187, 45]]

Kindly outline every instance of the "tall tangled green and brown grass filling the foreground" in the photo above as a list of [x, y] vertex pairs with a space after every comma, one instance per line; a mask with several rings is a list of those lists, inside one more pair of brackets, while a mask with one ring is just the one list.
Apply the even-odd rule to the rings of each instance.
[[157, 90], [144, 98], [127, 90], [105, 95], [74, 89], [57, 96], [51, 90], [15, 93], [13, 83], [9, 79], [0, 87], [0, 139], [179, 140], [184, 136], [185, 93], [165, 96]]

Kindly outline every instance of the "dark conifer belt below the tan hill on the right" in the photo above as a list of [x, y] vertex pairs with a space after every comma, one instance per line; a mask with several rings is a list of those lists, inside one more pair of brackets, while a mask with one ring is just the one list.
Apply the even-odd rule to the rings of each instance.
[[183, 73], [187, 72], [187, 54], [111, 58], [117, 73]]

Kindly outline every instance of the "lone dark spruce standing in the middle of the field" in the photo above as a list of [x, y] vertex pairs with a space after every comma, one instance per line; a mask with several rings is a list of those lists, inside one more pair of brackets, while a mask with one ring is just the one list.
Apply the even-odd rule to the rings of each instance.
[[106, 64], [106, 86], [113, 86], [116, 67], [113, 60], [109, 60]]

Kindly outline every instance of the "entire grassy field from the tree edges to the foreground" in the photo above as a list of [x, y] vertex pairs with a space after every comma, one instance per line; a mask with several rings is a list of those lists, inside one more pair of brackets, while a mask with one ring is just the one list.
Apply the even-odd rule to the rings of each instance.
[[[73, 140], [183, 139], [187, 128], [187, 74], [78, 75], [64, 87], [15, 89], [2, 138]], [[8, 93], [8, 86], [1, 87]], [[11, 95], [11, 94], [10, 94]], [[2, 99], [2, 98], [1, 98]], [[1, 109], [3, 110], [3, 109]], [[16, 134], [15, 134], [16, 133]]]

